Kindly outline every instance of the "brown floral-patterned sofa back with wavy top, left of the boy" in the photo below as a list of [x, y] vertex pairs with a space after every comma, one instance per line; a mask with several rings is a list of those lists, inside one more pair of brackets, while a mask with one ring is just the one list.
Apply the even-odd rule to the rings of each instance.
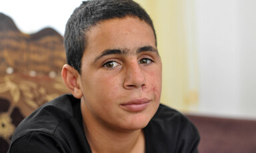
[[0, 150], [23, 118], [68, 90], [61, 80], [66, 63], [63, 37], [45, 28], [28, 35], [0, 13]]

